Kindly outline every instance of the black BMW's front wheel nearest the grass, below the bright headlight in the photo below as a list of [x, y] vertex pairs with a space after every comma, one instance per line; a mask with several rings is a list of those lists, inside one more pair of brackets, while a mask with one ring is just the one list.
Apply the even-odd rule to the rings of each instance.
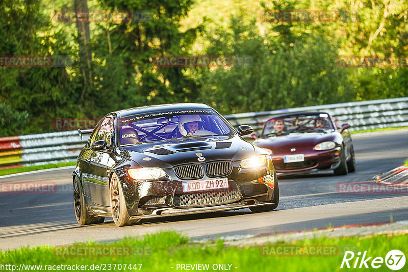
[[109, 199], [111, 203], [111, 213], [116, 226], [122, 227], [133, 225], [140, 220], [130, 220], [127, 213], [126, 203], [123, 196], [122, 185], [119, 177], [114, 173], [109, 183]]

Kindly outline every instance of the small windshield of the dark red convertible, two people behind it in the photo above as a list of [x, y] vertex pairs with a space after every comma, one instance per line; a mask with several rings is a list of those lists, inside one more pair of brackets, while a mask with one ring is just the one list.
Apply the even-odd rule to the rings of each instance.
[[328, 114], [302, 114], [276, 117], [268, 120], [262, 132], [265, 136], [290, 133], [326, 132], [335, 129]]

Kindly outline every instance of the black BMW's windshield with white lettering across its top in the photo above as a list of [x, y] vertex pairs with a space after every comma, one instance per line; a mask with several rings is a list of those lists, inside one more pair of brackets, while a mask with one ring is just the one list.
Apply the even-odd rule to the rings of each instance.
[[[193, 114], [175, 114], [180, 112]], [[135, 115], [121, 118], [118, 126], [120, 146], [178, 138], [234, 134], [232, 128], [211, 110]]]

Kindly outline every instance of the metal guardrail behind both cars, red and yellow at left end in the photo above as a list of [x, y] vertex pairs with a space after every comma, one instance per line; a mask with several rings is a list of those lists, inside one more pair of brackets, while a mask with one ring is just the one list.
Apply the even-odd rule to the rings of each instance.
[[[272, 116], [308, 111], [328, 112], [350, 130], [408, 126], [408, 97], [241, 113], [225, 118], [234, 127], [250, 125], [260, 131]], [[89, 135], [81, 140], [77, 130], [0, 138], [0, 169], [75, 161]]]

